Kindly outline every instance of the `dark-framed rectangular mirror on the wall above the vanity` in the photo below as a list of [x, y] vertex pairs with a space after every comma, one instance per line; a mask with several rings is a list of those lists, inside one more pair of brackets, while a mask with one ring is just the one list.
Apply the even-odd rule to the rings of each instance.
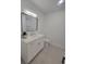
[[38, 29], [38, 17], [34, 13], [21, 13], [21, 30], [22, 31], [36, 31]]

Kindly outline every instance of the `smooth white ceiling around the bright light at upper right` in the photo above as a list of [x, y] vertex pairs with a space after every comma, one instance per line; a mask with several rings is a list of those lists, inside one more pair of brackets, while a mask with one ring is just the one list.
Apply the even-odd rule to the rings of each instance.
[[44, 13], [65, 9], [65, 2], [62, 3], [61, 5], [58, 5], [58, 2], [60, 0], [29, 0], [29, 1], [34, 3]]

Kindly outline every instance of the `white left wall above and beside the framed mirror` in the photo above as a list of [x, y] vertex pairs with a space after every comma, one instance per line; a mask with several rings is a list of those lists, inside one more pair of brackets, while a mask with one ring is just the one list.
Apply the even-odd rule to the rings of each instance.
[[21, 0], [21, 10], [28, 10], [38, 15], [38, 33], [42, 33], [44, 14], [29, 0]]

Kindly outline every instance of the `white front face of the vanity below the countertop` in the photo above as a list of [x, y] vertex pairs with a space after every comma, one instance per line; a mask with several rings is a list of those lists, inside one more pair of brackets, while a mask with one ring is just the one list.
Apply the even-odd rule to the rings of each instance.
[[33, 60], [35, 55], [44, 48], [44, 42], [41, 39], [35, 40], [27, 46], [27, 62]]

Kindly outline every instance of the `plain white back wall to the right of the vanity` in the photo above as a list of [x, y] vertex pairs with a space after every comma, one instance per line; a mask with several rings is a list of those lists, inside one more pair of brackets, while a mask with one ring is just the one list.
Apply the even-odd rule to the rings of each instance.
[[44, 34], [51, 40], [50, 43], [65, 48], [65, 11], [57, 11], [45, 15]]

